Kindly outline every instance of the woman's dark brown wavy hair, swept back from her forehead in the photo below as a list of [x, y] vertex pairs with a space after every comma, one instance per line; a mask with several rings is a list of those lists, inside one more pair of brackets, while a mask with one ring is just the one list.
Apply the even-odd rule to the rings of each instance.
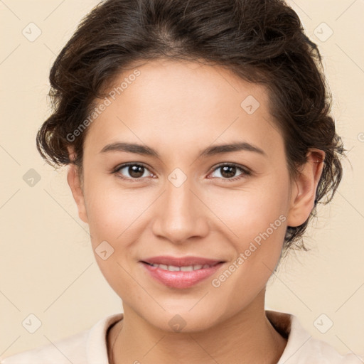
[[102, 1], [82, 18], [50, 70], [53, 113], [36, 137], [41, 156], [53, 166], [75, 164], [82, 175], [88, 128], [73, 140], [69, 136], [120, 73], [156, 58], [219, 65], [267, 87], [291, 177], [309, 149], [325, 152], [314, 208], [305, 223], [287, 227], [284, 237], [283, 255], [307, 251], [302, 237], [317, 203], [330, 202], [338, 188], [345, 149], [329, 115], [332, 99], [320, 52], [285, 1]]

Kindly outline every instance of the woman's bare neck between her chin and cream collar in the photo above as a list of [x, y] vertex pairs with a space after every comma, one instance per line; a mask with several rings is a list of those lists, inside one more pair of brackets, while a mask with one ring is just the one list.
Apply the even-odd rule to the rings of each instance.
[[218, 325], [193, 333], [161, 331], [124, 305], [124, 319], [109, 333], [111, 363], [277, 363], [287, 339], [265, 316], [264, 299], [263, 305], [254, 303]]

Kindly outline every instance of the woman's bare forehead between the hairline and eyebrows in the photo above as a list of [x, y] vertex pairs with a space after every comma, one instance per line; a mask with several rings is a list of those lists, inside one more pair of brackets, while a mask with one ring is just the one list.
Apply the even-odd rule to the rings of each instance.
[[151, 60], [120, 73], [106, 95], [85, 148], [118, 140], [185, 149], [237, 137], [268, 147], [282, 143], [267, 90], [217, 65]]

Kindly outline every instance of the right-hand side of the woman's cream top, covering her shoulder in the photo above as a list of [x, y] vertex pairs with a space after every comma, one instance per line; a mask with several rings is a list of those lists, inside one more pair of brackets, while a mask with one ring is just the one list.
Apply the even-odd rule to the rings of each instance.
[[287, 338], [277, 364], [363, 364], [360, 355], [352, 352], [338, 353], [336, 348], [325, 341], [314, 338], [293, 314], [265, 311], [274, 328]]

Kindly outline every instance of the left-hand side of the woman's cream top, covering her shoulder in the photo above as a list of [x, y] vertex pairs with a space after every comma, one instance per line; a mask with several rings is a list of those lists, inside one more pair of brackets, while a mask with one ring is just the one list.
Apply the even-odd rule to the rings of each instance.
[[122, 314], [107, 316], [92, 328], [38, 348], [0, 358], [0, 364], [92, 364], [107, 363], [107, 329]]

